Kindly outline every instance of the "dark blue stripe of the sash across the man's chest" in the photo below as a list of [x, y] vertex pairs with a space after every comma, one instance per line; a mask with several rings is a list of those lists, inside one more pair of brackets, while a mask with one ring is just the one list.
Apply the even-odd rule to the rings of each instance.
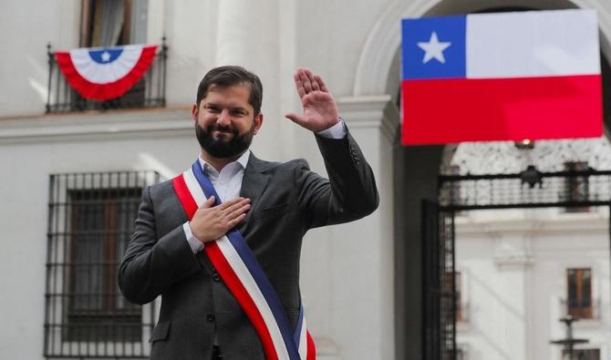
[[[203, 173], [202, 167], [200, 166], [200, 162], [196, 160], [192, 165], [193, 174], [195, 175], [195, 179], [200, 183], [200, 187], [202, 187], [204, 195], [206, 198], [210, 198], [212, 195], [214, 196], [214, 205], [219, 205], [221, 203], [216, 190], [212, 186], [212, 182], [208, 179], [208, 177]], [[295, 345], [295, 342], [291, 339], [292, 332], [291, 326], [288, 323], [288, 318], [285, 314], [285, 309], [278, 298], [278, 294], [275, 293], [274, 286], [269, 282], [269, 279], [265, 275], [263, 268], [259, 264], [259, 262], [254, 257], [254, 253], [246, 244], [242, 233], [237, 230], [229, 231], [226, 234], [229, 241], [232, 243], [235, 251], [240, 255], [242, 261], [253, 275], [254, 282], [257, 283], [259, 289], [261, 289], [261, 293], [263, 293], [265, 301], [269, 304], [270, 309], [272, 310], [272, 314], [274, 314], [275, 322], [278, 324], [278, 328], [280, 329], [280, 334], [285, 341], [286, 350], [291, 359], [299, 359], [298, 342]]]

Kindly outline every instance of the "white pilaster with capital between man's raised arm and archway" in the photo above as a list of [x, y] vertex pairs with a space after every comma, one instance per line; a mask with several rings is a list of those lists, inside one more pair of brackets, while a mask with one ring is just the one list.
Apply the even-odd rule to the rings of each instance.
[[392, 143], [396, 118], [385, 117], [389, 99], [338, 101], [341, 116], [375, 173], [380, 196], [378, 210], [367, 218], [331, 228], [331, 288], [337, 296], [332, 297], [330, 316], [343, 359], [395, 358]]

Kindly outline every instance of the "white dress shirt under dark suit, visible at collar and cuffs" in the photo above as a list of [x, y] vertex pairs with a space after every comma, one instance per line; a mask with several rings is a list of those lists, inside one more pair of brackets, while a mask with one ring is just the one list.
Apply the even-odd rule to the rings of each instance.
[[[346, 136], [346, 133], [346, 125], [344, 125], [344, 121], [340, 118], [336, 125], [318, 132], [317, 135], [327, 139], [343, 139]], [[251, 150], [246, 150], [241, 157], [225, 165], [221, 172], [212, 168], [209, 163], [202, 159], [202, 156], [199, 157], [203, 173], [206, 174], [208, 179], [210, 179], [214, 190], [216, 190], [219, 198], [221, 198], [219, 201], [223, 202], [240, 196], [244, 170], [246, 169], [246, 164], [248, 164], [250, 155]], [[203, 250], [203, 243], [193, 236], [189, 221], [182, 224], [182, 229], [184, 230], [184, 234], [187, 238], [187, 242], [189, 242], [192, 252], [201, 252]]]

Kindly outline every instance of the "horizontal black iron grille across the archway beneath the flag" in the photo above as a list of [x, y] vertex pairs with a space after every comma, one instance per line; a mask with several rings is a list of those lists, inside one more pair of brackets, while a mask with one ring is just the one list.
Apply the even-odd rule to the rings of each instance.
[[611, 170], [442, 175], [440, 205], [452, 210], [566, 207], [611, 202]]

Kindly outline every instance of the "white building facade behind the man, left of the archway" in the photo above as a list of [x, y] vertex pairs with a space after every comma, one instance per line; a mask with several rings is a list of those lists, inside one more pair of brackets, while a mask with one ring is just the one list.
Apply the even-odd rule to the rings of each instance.
[[[113, 214], [129, 213], [133, 201], [125, 205], [116, 199], [138, 198], [141, 186], [170, 179], [190, 166], [198, 150], [190, 113], [197, 85], [210, 68], [235, 64], [253, 70], [264, 83], [264, 126], [253, 147], [258, 157], [278, 161], [303, 157], [314, 170], [325, 173], [312, 135], [283, 116], [299, 109], [292, 80], [295, 68], [310, 67], [326, 79], [376, 174], [378, 211], [306, 236], [301, 282], [318, 357], [421, 358], [420, 201], [437, 197], [444, 148], [400, 146], [400, 19], [510, 6], [595, 8], [601, 54], [605, 62], [611, 56], [611, 5], [602, 0], [6, 1], [0, 15], [5, 34], [0, 42], [5, 50], [0, 60], [5, 79], [0, 87], [0, 167], [5, 174], [0, 188], [5, 204], [0, 210], [4, 229], [0, 308], [8, 326], [0, 332], [1, 357], [42, 359], [57, 349], [63, 355], [94, 357], [102, 351], [98, 343], [118, 342], [103, 331], [79, 338], [61, 326], [52, 338], [48, 325], [56, 324], [52, 315], [59, 325], [87, 327], [94, 321], [109, 321], [99, 312], [79, 313], [83, 308], [122, 312], [122, 319], [135, 314], [118, 300], [98, 296], [83, 304], [69, 294], [89, 286], [89, 293], [112, 296], [113, 284], [100, 280], [110, 279], [111, 273], [100, 278], [91, 265], [108, 265], [126, 241], [122, 233], [129, 232], [129, 225]], [[105, 28], [108, 18], [122, 21]], [[49, 75], [47, 45], [51, 50], [108, 41], [161, 45], [162, 38], [168, 53], [161, 104], [148, 107], [143, 102], [119, 109], [110, 104], [107, 109], [71, 103], [67, 111], [48, 111], [47, 105], [60, 103], [62, 91], [69, 90], [49, 86], [53, 73]], [[144, 84], [145, 90], [158, 87], [159, 81]], [[74, 219], [75, 211], [88, 211], [87, 219], [104, 221]], [[115, 245], [104, 249], [70, 245], [71, 239], [83, 234], [87, 235], [83, 243], [95, 243], [88, 230], [98, 228], [115, 229], [111, 231]], [[79, 277], [74, 270], [84, 256], [89, 259], [90, 278]], [[65, 301], [49, 303], [54, 296]], [[150, 324], [154, 305], [144, 313], [140, 320]], [[140, 338], [146, 345], [147, 331], [146, 326], [136, 333], [125, 330], [119, 340], [137, 343], [134, 339]], [[49, 350], [58, 336], [69, 344]], [[103, 351], [108, 355], [116, 350]], [[121, 351], [129, 355], [140, 350]], [[539, 358], [534, 355], [523, 358]]]

